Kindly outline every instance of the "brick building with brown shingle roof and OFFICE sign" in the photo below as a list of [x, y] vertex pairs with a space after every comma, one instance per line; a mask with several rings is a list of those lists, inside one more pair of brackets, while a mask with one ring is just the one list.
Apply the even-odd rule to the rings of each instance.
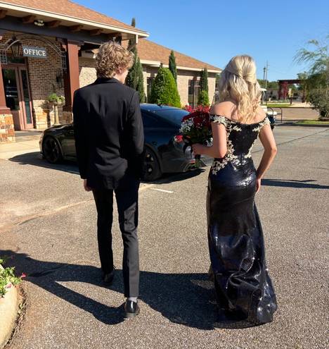
[[[0, 1], [0, 142], [14, 141], [15, 130], [53, 125], [50, 94], [65, 97], [65, 104], [58, 105], [59, 123], [72, 122], [73, 93], [96, 79], [93, 51], [102, 42], [127, 44], [133, 39], [145, 86], [150, 88], [160, 63], [166, 66], [170, 50], [146, 37], [144, 30], [69, 0]], [[175, 55], [182, 104], [195, 103], [198, 76], [205, 66], [212, 99], [219, 68]]]

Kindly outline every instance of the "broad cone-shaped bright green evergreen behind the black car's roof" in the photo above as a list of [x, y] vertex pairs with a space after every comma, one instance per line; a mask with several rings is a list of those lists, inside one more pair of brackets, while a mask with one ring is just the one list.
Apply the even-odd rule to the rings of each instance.
[[179, 92], [172, 72], [168, 68], [159, 68], [159, 71], [157, 71], [157, 76], [152, 85], [150, 102], [181, 107]]

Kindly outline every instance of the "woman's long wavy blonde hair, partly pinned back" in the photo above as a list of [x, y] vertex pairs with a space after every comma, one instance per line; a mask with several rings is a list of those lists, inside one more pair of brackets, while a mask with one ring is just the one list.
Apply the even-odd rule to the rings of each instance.
[[256, 64], [247, 55], [235, 56], [228, 62], [219, 80], [219, 101], [233, 99], [239, 121], [251, 121], [259, 106], [262, 90], [256, 76]]

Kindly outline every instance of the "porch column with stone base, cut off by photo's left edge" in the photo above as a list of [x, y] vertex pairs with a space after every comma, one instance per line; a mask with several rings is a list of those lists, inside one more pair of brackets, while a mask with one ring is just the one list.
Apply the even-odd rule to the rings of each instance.
[[4, 78], [2, 76], [2, 67], [0, 63], [0, 143], [8, 141], [15, 141], [15, 131], [11, 109], [6, 106]]

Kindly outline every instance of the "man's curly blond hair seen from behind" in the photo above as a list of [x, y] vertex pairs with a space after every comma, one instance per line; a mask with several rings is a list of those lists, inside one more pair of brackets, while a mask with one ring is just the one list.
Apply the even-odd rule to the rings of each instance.
[[113, 78], [119, 68], [128, 70], [134, 63], [134, 54], [120, 44], [105, 42], [96, 54], [96, 72], [98, 78]]

